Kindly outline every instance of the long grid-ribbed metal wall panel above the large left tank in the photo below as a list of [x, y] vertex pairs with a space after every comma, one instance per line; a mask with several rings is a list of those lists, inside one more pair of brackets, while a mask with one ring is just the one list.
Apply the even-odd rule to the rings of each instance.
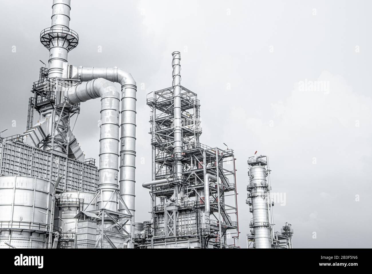
[[0, 175], [35, 176], [52, 182], [62, 175], [57, 191], [97, 191], [98, 168], [87, 163], [20, 142], [4, 142], [0, 160]]

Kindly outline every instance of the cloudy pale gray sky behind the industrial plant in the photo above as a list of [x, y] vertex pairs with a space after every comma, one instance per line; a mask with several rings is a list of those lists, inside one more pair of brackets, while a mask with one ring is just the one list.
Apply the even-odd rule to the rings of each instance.
[[[71, 2], [80, 41], [69, 63], [122, 67], [137, 81], [137, 222], [150, 219], [146, 93], [171, 86], [171, 52], [180, 51], [181, 83], [201, 101], [201, 142], [235, 150], [240, 246], [251, 219], [246, 160], [258, 150], [270, 157], [272, 191], [285, 197], [273, 209], [276, 229], [290, 222], [295, 248], [371, 247], [371, 1]], [[39, 34], [51, 4], [1, 1], [4, 135], [25, 130], [39, 59], [48, 61]], [[74, 131], [96, 159], [99, 106], [83, 103]]]

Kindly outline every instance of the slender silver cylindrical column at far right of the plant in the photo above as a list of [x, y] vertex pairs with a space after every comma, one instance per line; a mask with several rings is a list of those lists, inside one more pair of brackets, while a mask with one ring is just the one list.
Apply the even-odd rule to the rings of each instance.
[[254, 165], [250, 168], [250, 197], [252, 198], [253, 220], [250, 227], [254, 228], [254, 245], [256, 248], [271, 248], [271, 231], [269, 208], [267, 204], [268, 184], [266, 168]]

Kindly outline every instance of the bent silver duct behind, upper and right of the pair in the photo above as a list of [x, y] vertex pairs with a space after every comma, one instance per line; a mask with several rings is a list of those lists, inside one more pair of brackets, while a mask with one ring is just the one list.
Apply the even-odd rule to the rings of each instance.
[[[122, 68], [96, 68], [71, 66], [70, 78], [89, 81], [104, 78], [110, 82], [120, 83], [121, 97], [121, 148], [119, 190], [126, 206], [131, 211], [132, 233], [134, 233], [134, 198], [135, 198], [135, 157], [136, 157], [136, 92], [137, 86], [130, 73]], [[124, 212], [124, 207], [120, 208]], [[126, 225], [126, 227], [129, 226]], [[128, 229], [128, 227], [127, 227]]]

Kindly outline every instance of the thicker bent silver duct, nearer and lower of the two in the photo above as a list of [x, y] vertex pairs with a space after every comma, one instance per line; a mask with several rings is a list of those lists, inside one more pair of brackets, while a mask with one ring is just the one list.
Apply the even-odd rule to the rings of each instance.
[[67, 98], [72, 104], [99, 97], [101, 98], [101, 125], [97, 191], [101, 191], [101, 199], [98, 208], [105, 207], [117, 212], [118, 201], [116, 195], [112, 193], [118, 189], [120, 93], [113, 83], [102, 78], [67, 89]]

